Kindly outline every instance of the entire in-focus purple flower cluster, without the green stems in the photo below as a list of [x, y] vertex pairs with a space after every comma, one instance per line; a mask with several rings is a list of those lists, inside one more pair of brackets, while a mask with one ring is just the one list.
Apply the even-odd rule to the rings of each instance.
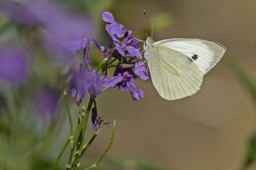
[[[142, 99], [144, 91], [139, 89], [134, 82], [134, 79], [138, 77], [142, 80], [148, 79], [145, 65], [141, 61], [136, 60], [142, 58], [138, 47], [140, 43], [136, 38], [131, 36], [132, 31], [125, 29], [123, 25], [114, 20], [114, 17], [110, 12], [102, 12], [102, 18], [105, 22], [110, 23], [105, 26], [106, 31], [111, 37], [111, 41], [108, 45], [109, 50], [106, 50], [104, 46], [101, 46], [99, 42], [93, 38], [79, 38], [69, 43], [62, 44], [68, 46], [68, 50], [73, 54], [83, 48], [84, 64], [87, 65], [91, 64], [89, 46], [90, 42], [94, 41], [99, 50], [104, 53], [103, 57], [106, 59], [106, 62], [101, 67], [101, 77], [99, 76], [99, 73], [90, 69], [82, 71], [82, 65], [80, 66], [79, 74], [75, 74], [76, 80], [73, 84], [72, 95], [75, 98], [75, 102], [77, 104], [81, 102], [86, 90], [97, 96], [101, 86], [107, 88], [118, 86], [121, 91], [130, 90], [134, 100]], [[118, 61], [118, 64], [114, 75], [111, 78], [106, 78], [108, 76], [107, 69], [112, 66], [115, 60]], [[104, 80], [102, 84], [101, 80]]]

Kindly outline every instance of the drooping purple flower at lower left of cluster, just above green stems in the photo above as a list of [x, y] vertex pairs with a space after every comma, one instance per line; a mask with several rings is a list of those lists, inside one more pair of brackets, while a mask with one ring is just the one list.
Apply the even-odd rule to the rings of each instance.
[[75, 103], [79, 105], [86, 91], [95, 96], [99, 95], [102, 83], [98, 72], [94, 72], [92, 69], [83, 71], [82, 64], [80, 64], [79, 74], [74, 73], [73, 75], [72, 86], [72, 96]]

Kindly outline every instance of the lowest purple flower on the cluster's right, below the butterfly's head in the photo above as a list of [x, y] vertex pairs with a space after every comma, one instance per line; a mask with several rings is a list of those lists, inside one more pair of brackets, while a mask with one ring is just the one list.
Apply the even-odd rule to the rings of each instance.
[[144, 91], [136, 86], [132, 78], [133, 75], [130, 75], [128, 71], [125, 71], [123, 74], [119, 73], [117, 76], [105, 79], [102, 86], [108, 88], [118, 86], [121, 91], [130, 90], [133, 100], [139, 100], [139, 98], [143, 99]]

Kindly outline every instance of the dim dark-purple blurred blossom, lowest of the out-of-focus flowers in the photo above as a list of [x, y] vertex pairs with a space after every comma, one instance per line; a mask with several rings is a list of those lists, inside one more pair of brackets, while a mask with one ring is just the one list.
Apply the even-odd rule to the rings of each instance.
[[45, 86], [33, 91], [33, 102], [36, 111], [42, 116], [50, 115], [54, 118], [59, 94], [51, 87]]

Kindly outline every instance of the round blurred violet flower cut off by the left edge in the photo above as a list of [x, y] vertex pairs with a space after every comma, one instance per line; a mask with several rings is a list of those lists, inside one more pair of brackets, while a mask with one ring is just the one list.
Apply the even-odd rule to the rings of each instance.
[[6, 46], [0, 50], [0, 79], [11, 84], [22, 84], [29, 76], [27, 55], [17, 46]]

